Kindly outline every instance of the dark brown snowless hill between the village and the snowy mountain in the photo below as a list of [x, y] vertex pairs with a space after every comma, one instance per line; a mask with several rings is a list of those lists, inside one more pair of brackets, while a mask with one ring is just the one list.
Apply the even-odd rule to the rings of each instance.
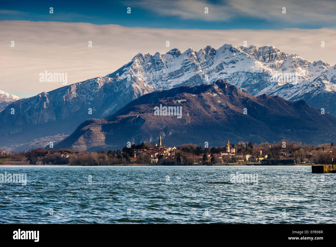
[[[185, 99], [185, 102], [178, 102]], [[181, 106], [182, 117], [154, 116], [157, 106]], [[243, 114], [244, 108], [247, 114]], [[281, 139], [325, 143], [336, 136], [336, 118], [304, 100], [287, 101], [267, 94], [254, 97], [218, 80], [210, 85], [181, 86], [145, 94], [104, 119], [89, 119], [59, 143], [62, 148], [114, 150], [127, 142], [164, 145], [196, 143], [224, 146], [227, 138], [272, 142]]]

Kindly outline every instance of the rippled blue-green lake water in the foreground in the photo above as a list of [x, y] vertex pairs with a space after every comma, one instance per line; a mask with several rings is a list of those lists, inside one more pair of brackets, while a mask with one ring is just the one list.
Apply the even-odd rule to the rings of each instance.
[[0, 183], [0, 223], [336, 222], [336, 174], [312, 174], [311, 166], [0, 167], [4, 172], [26, 173], [27, 185]]

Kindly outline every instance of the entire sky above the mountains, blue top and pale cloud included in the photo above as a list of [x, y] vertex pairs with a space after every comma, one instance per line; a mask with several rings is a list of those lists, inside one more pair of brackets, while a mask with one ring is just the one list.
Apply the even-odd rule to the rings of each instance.
[[41, 83], [44, 71], [68, 73], [72, 84], [112, 73], [139, 52], [218, 49], [245, 40], [334, 65], [335, 13], [336, 2], [326, 0], [2, 0], [0, 90], [33, 96], [62, 86]]

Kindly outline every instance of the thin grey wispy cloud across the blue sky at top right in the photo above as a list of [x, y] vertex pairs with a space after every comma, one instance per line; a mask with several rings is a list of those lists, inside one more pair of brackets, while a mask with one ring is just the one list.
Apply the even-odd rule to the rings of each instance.
[[[166, 16], [182, 19], [228, 21], [239, 17], [254, 17], [267, 21], [334, 24], [336, 4], [332, 0], [221, 0], [216, 3], [201, 0], [126, 0], [127, 6], [137, 6]], [[204, 8], [209, 8], [205, 14]], [[282, 8], [286, 8], [283, 14]]]

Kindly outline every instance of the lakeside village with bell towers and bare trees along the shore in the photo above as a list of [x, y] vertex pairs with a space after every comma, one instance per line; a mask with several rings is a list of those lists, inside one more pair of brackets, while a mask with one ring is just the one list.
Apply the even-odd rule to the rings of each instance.
[[26, 152], [0, 150], [2, 165], [295, 165], [332, 164], [336, 160], [334, 143], [318, 146], [281, 140], [254, 145], [226, 141], [225, 147], [203, 148], [194, 144], [176, 147], [158, 143], [133, 144], [117, 151], [78, 152], [71, 149], [33, 149]]

